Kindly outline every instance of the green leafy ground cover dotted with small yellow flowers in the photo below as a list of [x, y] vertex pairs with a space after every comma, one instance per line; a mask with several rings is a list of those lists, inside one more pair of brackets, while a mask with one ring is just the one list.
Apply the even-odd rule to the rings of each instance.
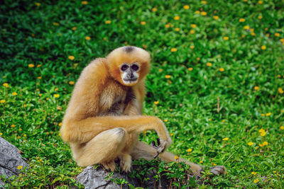
[[75, 184], [82, 168], [58, 136], [73, 82], [90, 60], [135, 45], [151, 52], [144, 113], [165, 121], [170, 151], [226, 166], [205, 174], [209, 187], [283, 188], [283, 1], [84, 2], [0, 5], [0, 135], [31, 166], [11, 185]]

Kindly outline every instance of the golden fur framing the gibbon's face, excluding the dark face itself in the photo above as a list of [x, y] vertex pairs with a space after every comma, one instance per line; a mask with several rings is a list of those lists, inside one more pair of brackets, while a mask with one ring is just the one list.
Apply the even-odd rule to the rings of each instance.
[[109, 67], [109, 73], [111, 76], [119, 81], [121, 84], [126, 85], [122, 79], [121, 67], [126, 64], [131, 66], [132, 64], [138, 65], [138, 81], [141, 81], [150, 71], [150, 55], [146, 50], [139, 47], [126, 46], [119, 47], [113, 50], [107, 55], [107, 66]]

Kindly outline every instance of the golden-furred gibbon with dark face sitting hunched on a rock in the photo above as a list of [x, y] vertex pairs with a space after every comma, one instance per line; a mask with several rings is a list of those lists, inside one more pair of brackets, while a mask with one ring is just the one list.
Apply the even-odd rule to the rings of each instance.
[[[177, 161], [174, 154], [165, 151], [172, 141], [163, 121], [142, 115], [145, 76], [150, 67], [146, 50], [126, 46], [94, 59], [83, 69], [60, 129], [79, 166], [102, 164], [114, 171], [114, 160], [120, 159], [127, 172], [132, 159], [151, 160], [160, 153], [163, 161]], [[138, 134], [146, 130], [157, 132], [158, 147], [138, 141]], [[200, 165], [178, 161], [189, 164], [192, 173], [202, 171]], [[214, 174], [224, 172], [224, 166], [212, 168]]]

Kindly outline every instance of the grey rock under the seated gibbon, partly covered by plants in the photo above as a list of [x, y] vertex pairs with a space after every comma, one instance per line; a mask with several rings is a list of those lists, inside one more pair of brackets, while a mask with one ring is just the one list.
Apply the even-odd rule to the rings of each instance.
[[[135, 168], [135, 166], [134, 166]], [[76, 182], [81, 183], [84, 185], [86, 189], [94, 189], [94, 188], [104, 188], [104, 189], [120, 189], [120, 188], [129, 188], [129, 184], [133, 185], [134, 187], [143, 187], [143, 188], [169, 188], [170, 182], [167, 181], [165, 176], [162, 176], [160, 181], [156, 182], [153, 176], [155, 173], [153, 171], [149, 171], [146, 175], [146, 178], [149, 178], [146, 181], [141, 182], [138, 178], [131, 178], [127, 173], [118, 173], [114, 172], [112, 179], [122, 178], [128, 183], [123, 185], [118, 185], [113, 183], [109, 177], [110, 172], [107, 172], [99, 166], [98, 168], [94, 169], [93, 166], [87, 166], [84, 168], [84, 171], [80, 173], [77, 178]], [[160, 187], [158, 187], [160, 185]]]

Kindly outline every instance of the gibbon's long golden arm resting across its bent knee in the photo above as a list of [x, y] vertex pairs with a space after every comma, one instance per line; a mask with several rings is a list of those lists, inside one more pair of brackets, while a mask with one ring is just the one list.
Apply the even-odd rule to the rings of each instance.
[[129, 133], [155, 130], [160, 140], [168, 141], [170, 139], [163, 122], [152, 116], [102, 116], [80, 121], [69, 120], [66, 124], [67, 130], [62, 132], [62, 138], [65, 142], [88, 142], [100, 132], [116, 127], [122, 127]]

